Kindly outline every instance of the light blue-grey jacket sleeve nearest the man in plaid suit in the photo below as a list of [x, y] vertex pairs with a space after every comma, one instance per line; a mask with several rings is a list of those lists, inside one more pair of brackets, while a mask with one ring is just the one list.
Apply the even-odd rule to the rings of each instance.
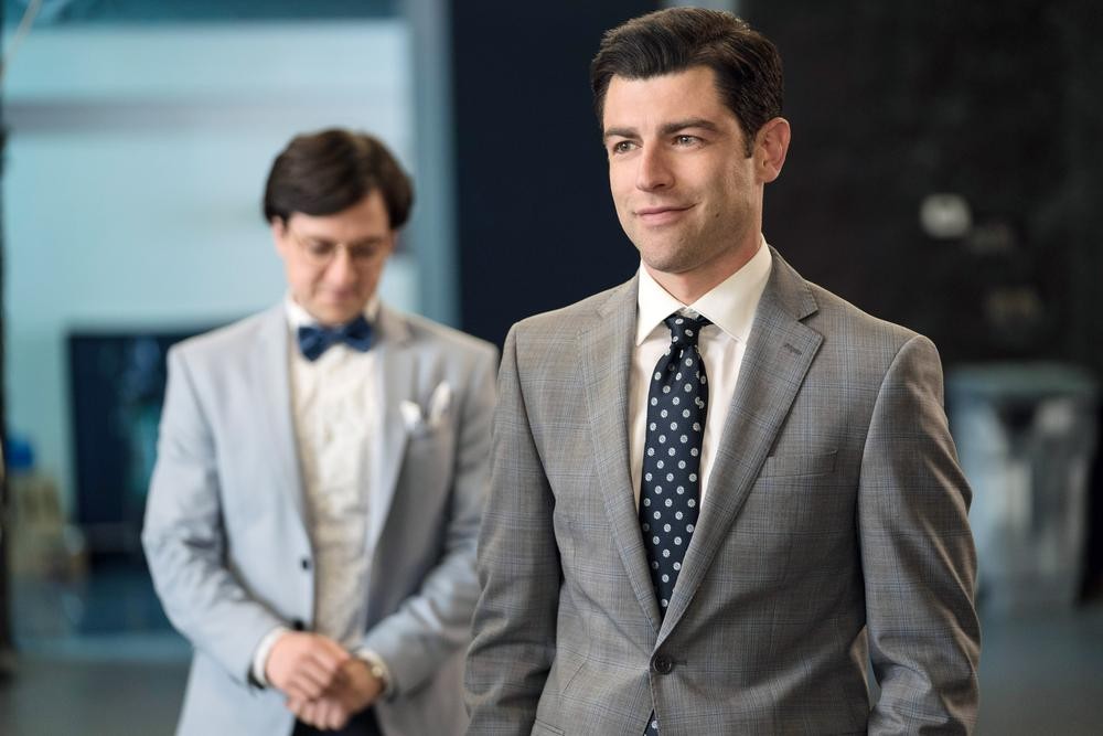
[[481, 350], [463, 388], [443, 555], [418, 591], [372, 627], [361, 643], [386, 662], [390, 697], [424, 684], [442, 660], [470, 640], [479, 596], [475, 545], [486, 502], [496, 367], [496, 351]]

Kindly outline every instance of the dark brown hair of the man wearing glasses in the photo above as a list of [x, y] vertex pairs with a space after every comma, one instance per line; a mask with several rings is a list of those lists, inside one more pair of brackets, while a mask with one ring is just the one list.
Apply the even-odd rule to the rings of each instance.
[[414, 188], [395, 157], [377, 138], [331, 128], [296, 136], [272, 162], [265, 186], [265, 220], [283, 222], [296, 212], [332, 215], [373, 190], [383, 195], [390, 228], [409, 218]]

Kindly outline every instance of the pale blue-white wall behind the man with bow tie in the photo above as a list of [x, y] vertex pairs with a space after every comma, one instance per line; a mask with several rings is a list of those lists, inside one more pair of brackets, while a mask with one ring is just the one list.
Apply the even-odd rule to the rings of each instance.
[[[400, 21], [33, 32], [6, 79], [8, 426], [73, 506], [65, 335], [244, 316], [283, 279], [259, 213], [272, 158], [332, 125], [414, 169]], [[384, 298], [418, 309], [413, 256]]]

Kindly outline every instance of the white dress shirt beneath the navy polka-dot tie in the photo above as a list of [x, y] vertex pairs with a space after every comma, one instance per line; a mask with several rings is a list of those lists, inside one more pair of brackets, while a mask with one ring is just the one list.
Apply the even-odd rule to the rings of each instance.
[[658, 359], [671, 344], [671, 331], [663, 323], [674, 312], [689, 317], [702, 314], [713, 323], [700, 330], [697, 351], [708, 376], [708, 412], [700, 448], [700, 503], [705, 504], [716, 447], [728, 418], [728, 407], [736, 393], [739, 366], [754, 323], [754, 311], [770, 278], [773, 258], [765, 239], [742, 268], [718, 284], [692, 305], [683, 305], [640, 264], [640, 292], [636, 310], [635, 352], [629, 385], [629, 448], [632, 489], [640, 505], [640, 478], [643, 473], [643, 445], [647, 419], [647, 391]]

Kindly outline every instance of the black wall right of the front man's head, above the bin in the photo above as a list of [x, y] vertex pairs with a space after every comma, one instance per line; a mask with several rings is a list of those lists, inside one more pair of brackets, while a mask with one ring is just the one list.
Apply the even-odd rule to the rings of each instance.
[[[742, 6], [781, 50], [794, 130], [767, 190], [771, 242], [806, 277], [932, 337], [947, 363], [1103, 367], [1085, 348], [1099, 320], [1081, 309], [1085, 269], [1103, 265], [1084, 202], [1103, 175], [1084, 88], [1103, 78], [1100, 13], [1068, 0]], [[968, 202], [966, 235], [920, 226], [933, 193]]]

